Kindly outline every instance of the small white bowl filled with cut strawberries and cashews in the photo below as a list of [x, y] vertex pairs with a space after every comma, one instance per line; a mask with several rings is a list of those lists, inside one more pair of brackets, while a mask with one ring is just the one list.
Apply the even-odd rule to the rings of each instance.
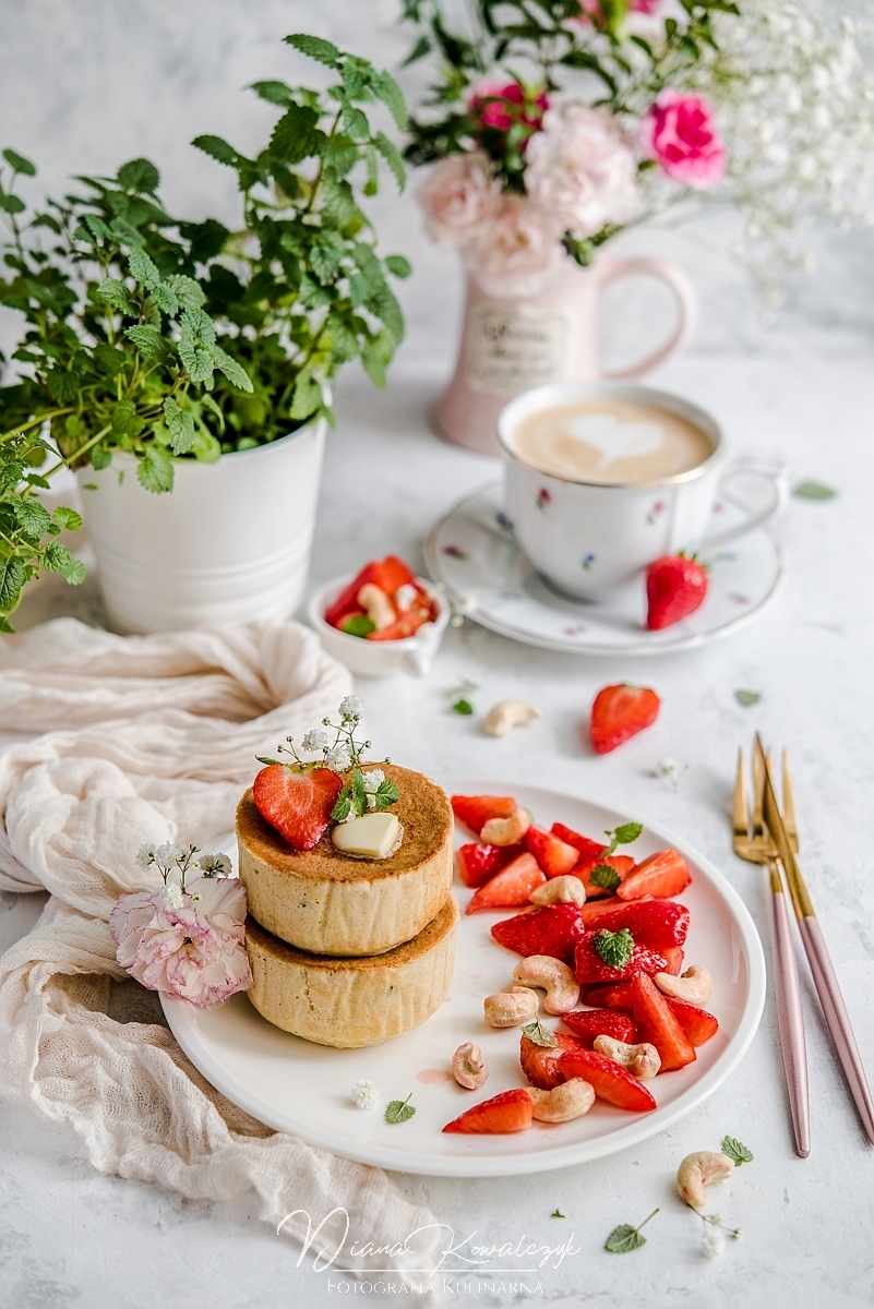
[[423, 677], [449, 623], [446, 600], [398, 559], [372, 559], [355, 577], [322, 586], [310, 624], [334, 654], [361, 677]]

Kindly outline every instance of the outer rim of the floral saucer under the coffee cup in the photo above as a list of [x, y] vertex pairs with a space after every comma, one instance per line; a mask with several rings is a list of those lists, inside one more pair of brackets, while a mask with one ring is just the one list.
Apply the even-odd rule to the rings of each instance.
[[[738, 614], [737, 618], [731, 618], [727, 623], [722, 623], [721, 627], [717, 627], [709, 632], [695, 632], [691, 636], [680, 636], [671, 641], [662, 641], [661, 644], [648, 641], [644, 639], [644, 635], [641, 635], [641, 637], [635, 644], [631, 645], [608, 645], [608, 644], [593, 645], [591, 643], [586, 641], [572, 643], [570, 640], [563, 641], [559, 637], [553, 639], [550, 636], [536, 636], [530, 632], [522, 632], [519, 628], [513, 628], [509, 624], [501, 623], [500, 619], [484, 615], [479, 609], [472, 609], [470, 613], [464, 613], [463, 605], [466, 597], [458, 590], [458, 588], [455, 588], [450, 581], [446, 580], [446, 577], [444, 576], [444, 571], [440, 565], [440, 556], [437, 554], [437, 538], [444, 525], [449, 522], [453, 514], [458, 513], [458, 511], [463, 505], [468, 504], [472, 500], [479, 500], [480, 496], [488, 495], [489, 492], [493, 492], [498, 488], [500, 488], [500, 482], [495, 480], [488, 482], [483, 484], [478, 491], [462, 496], [459, 500], [455, 501], [455, 504], [453, 504], [446, 511], [446, 513], [441, 514], [440, 518], [436, 520], [428, 535], [425, 537], [425, 543], [424, 543], [425, 567], [428, 568], [428, 572], [430, 573], [434, 585], [444, 588], [444, 590], [449, 597], [450, 605], [453, 606], [458, 605], [459, 613], [464, 618], [468, 618], [472, 623], [478, 623], [480, 627], [487, 628], [487, 631], [489, 632], [495, 632], [497, 636], [505, 636], [508, 640], [518, 641], [521, 645], [531, 645], [535, 649], [552, 651], [553, 653], [557, 654], [589, 654], [595, 657], [599, 654], [635, 654], [635, 656], [644, 654], [646, 657], [657, 654], [676, 654], [680, 651], [696, 649], [699, 645], [704, 645], [708, 641], [721, 640], [724, 636], [733, 636], [734, 632], [739, 631], [742, 627], [746, 627], [747, 623], [751, 623], [755, 618], [763, 614], [764, 610], [771, 606], [777, 593], [780, 592], [780, 588], [782, 586], [785, 577], [785, 556], [784, 556], [782, 543], [768, 525], [763, 525], [759, 528], [754, 528], [752, 531], [760, 531], [768, 538], [777, 560], [777, 572], [771, 585], [771, 589], [763, 596], [759, 603], [755, 605], [752, 609], [747, 610], [746, 614]], [[517, 548], [519, 548], [519, 552], [523, 554], [521, 546]]]

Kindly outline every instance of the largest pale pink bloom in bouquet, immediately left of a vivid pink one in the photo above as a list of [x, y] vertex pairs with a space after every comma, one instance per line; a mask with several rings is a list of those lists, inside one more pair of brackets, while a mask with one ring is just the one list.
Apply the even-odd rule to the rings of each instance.
[[621, 226], [638, 206], [637, 164], [606, 109], [574, 102], [551, 109], [531, 139], [525, 186], [574, 236]]

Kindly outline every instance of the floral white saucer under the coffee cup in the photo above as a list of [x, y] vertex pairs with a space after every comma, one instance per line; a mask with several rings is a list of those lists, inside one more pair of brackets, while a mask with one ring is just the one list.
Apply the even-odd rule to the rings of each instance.
[[[714, 507], [713, 531], [744, 514]], [[759, 528], [730, 545], [701, 552], [710, 585], [699, 610], [659, 632], [645, 627], [642, 579], [607, 601], [573, 601], [552, 590], [513, 537], [501, 508], [501, 487], [468, 496], [432, 529], [425, 559], [466, 617], [483, 627], [542, 649], [572, 654], [663, 654], [737, 631], [761, 613], [782, 572], [780, 547]]]

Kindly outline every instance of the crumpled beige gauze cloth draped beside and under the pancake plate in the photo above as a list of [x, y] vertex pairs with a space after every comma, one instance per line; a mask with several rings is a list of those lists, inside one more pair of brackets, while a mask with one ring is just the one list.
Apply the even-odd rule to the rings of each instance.
[[[313, 1228], [345, 1210], [345, 1259], [334, 1267], [361, 1266], [353, 1241], [403, 1242], [430, 1212], [381, 1170], [249, 1118], [165, 1028], [113, 1021], [109, 979], [124, 973], [107, 919], [123, 891], [161, 885], [137, 867], [140, 844], [215, 848], [255, 755], [334, 717], [351, 689], [293, 622], [123, 637], [61, 618], [0, 637], [0, 730], [44, 733], [0, 755], [0, 890], [51, 893], [0, 959], [0, 1094], [75, 1127], [101, 1172], [188, 1199], [254, 1187], [276, 1225], [293, 1210]], [[338, 1216], [310, 1253], [331, 1253], [341, 1230]], [[306, 1216], [283, 1232], [306, 1241]], [[425, 1267], [436, 1232], [377, 1262]]]

